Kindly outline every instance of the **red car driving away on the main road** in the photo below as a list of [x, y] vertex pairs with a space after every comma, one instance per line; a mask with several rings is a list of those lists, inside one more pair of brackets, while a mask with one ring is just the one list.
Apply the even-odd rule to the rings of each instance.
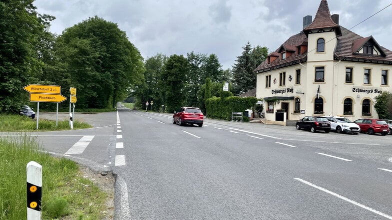
[[173, 124], [197, 124], [199, 127], [203, 126], [204, 115], [199, 108], [196, 107], [181, 107], [178, 112], [174, 112]]

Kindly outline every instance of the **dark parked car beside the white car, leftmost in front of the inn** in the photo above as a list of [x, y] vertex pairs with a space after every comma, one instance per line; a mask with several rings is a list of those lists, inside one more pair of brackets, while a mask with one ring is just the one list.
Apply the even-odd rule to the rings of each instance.
[[295, 123], [295, 128], [297, 130], [306, 129], [310, 132], [325, 131], [325, 133], [329, 133], [330, 123], [325, 117], [305, 116]]

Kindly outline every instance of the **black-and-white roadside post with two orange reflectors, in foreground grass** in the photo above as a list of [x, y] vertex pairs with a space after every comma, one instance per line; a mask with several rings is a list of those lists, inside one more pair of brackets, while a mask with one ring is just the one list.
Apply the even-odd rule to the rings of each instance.
[[30, 161], [26, 166], [27, 220], [41, 219], [42, 166]]

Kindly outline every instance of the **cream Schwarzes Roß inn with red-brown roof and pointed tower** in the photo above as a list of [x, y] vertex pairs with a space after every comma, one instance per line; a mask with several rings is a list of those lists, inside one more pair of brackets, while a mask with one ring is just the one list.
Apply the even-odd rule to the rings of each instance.
[[321, 0], [314, 19], [289, 37], [255, 70], [256, 97], [264, 99], [265, 119], [286, 112], [287, 120], [305, 115], [338, 115], [351, 120], [377, 118], [374, 97], [392, 92], [392, 52], [372, 36], [339, 25]]

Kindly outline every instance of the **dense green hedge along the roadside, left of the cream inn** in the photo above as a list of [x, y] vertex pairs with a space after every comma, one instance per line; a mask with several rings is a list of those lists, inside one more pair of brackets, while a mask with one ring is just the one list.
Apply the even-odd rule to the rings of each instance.
[[257, 102], [256, 97], [241, 98], [232, 96], [232, 94], [228, 95], [230, 93], [224, 94], [223, 98], [212, 97], [206, 100], [207, 117], [231, 120], [231, 112], [244, 112], [245, 109], [253, 107]]

